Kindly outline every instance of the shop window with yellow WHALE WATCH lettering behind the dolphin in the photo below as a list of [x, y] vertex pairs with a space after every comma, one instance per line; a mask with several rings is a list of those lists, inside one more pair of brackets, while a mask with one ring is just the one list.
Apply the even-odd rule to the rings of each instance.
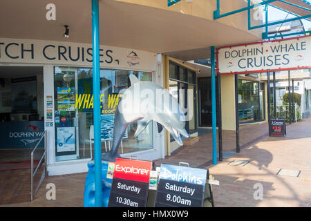
[[[109, 151], [112, 146], [114, 115], [122, 97], [120, 92], [131, 86], [130, 74], [134, 74], [140, 81], [152, 81], [152, 73], [149, 72], [100, 70], [102, 152]], [[93, 157], [93, 131], [90, 131], [93, 124], [92, 69], [55, 67], [56, 161]], [[120, 146], [119, 153], [153, 148], [152, 126], [151, 122], [138, 137], [133, 137], [137, 123], [129, 125], [122, 139], [122, 148]]]

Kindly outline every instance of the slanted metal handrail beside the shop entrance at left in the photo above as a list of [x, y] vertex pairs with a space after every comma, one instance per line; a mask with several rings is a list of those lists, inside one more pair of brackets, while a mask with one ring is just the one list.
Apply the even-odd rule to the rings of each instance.
[[[47, 163], [46, 163], [46, 138], [47, 138], [47, 131], [44, 131], [44, 133], [41, 135], [40, 139], [38, 140], [37, 144], [35, 145], [35, 147], [32, 149], [31, 151], [31, 187], [30, 187], [30, 202], [33, 200], [33, 197], [34, 195], [37, 193], [41, 183], [43, 182], [44, 180], [44, 177], [46, 177], [46, 166], [47, 166]], [[37, 149], [37, 147], [39, 146], [41, 140], [44, 138], [44, 153], [40, 156], [40, 160], [35, 168], [35, 171], [33, 169], [33, 155]], [[35, 189], [35, 191], [33, 191], [33, 180], [34, 180], [34, 177], [35, 177], [35, 174], [37, 173], [39, 167], [41, 166], [41, 163], [42, 161], [44, 160], [44, 172], [42, 173], [41, 177], [40, 177], [40, 180], [39, 180], [39, 184], [37, 186], [37, 188]]]

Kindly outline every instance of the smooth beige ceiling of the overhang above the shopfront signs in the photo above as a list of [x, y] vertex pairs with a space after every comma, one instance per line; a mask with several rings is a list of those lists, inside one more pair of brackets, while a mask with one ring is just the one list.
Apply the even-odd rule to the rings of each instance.
[[[46, 20], [48, 3], [55, 3], [56, 21]], [[69, 39], [62, 36], [64, 25], [69, 26]], [[91, 44], [91, 0], [1, 0], [0, 37]], [[100, 1], [102, 45], [193, 60], [209, 57], [210, 46], [258, 40], [218, 21], [121, 1]]]

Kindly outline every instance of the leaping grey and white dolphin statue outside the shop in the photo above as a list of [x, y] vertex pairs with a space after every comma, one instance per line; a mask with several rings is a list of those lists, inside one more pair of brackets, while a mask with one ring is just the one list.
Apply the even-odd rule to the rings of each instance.
[[138, 122], [134, 137], [140, 135], [151, 120], [157, 122], [158, 133], [161, 133], [164, 126], [180, 146], [183, 145], [181, 135], [189, 137], [185, 130], [182, 108], [168, 90], [151, 81], [140, 81], [133, 74], [129, 78], [131, 86], [124, 91], [115, 111], [111, 151], [102, 153], [102, 160], [105, 161], [115, 162], [120, 157], [117, 149], [126, 128], [133, 122]]

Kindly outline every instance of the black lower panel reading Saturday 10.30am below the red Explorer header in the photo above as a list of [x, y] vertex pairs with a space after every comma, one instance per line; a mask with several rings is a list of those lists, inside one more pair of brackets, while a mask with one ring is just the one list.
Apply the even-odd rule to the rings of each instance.
[[109, 207], [145, 207], [147, 206], [149, 184], [131, 180], [113, 178]]

